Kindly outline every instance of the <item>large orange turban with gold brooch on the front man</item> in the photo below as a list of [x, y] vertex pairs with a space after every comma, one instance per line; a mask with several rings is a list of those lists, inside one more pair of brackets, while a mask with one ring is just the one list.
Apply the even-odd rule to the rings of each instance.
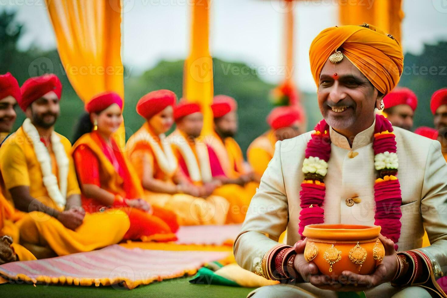
[[324, 29], [310, 46], [310, 68], [317, 87], [323, 66], [337, 50], [381, 93], [388, 94], [399, 82], [404, 66], [400, 43], [372, 25], [346, 25]]

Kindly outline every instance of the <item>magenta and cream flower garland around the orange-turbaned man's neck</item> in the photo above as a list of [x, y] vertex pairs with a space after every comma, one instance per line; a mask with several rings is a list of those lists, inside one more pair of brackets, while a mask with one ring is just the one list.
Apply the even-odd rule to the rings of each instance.
[[[382, 115], [375, 116], [374, 166], [377, 179], [374, 184], [375, 222], [382, 227], [381, 233], [397, 243], [401, 235], [401, 185], [397, 179], [399, 166], [396, 154], [396, 135], [391, 123]], [[329, 125], [323, 119], [315, 126], [309, 140], [303, 163], [304, 181], [301, 184], [299, 234], [303, 236], [304, 227], [324, 222], [326, 186], [324, 178], [328, 171], [331, 155]]]

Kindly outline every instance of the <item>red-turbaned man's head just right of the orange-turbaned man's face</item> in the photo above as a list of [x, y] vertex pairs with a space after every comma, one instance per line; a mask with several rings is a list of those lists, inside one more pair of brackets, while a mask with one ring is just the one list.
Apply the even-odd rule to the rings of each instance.
[[417, 97], [409, 88], [394, 88], [384, 97], [384, 113], [393, 126], [413, 129], [413, 116]]

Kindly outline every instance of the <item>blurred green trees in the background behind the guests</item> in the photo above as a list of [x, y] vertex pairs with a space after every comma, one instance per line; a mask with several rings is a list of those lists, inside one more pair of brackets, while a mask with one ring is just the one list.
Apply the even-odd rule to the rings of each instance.
[[[65, 75], [57, 50], [42, 51], [37, 46], [19, 50], [17, 42], [26, 29], [15, 21], [15, 12], [0, 13], [0, 73], [10, 71], [19, 84], [31, 76], [52, 72], [59, 76], [63, 84], [61, 116], [55, 130], [72, 139], [74, 128], [84, 112], [82, 101], [77, 97]], [[413, 89], [419, 98], [415, 115], [415, 127], [433, 126], [430, 113], [431, 94], [447, 87], [447, 42], [426, 45], [421, 55], [407, 53], [404, 73], [400, 85]], [[244, 63], [213, 59], [214, 94], [232, 96], [238, 101], [240, 129], [236, 140], [245, 152], [251, 141], [267, 130], [265, 118], [273, 108], [269, 93], [273, 84], [261, 80], [256, 69]], [[124, 79], [124, 119], [127, 134], [133, 134], [144, 120], [135, 112], [140, 97], [157, 89], [170, 89], [181, 97], [184, 60], [160, 61], [155, 67], [141, 75], [129, 73], [125, 67]], [[431, 68], [430, 68], [431, 67]], [[433, 68], [434, 67], [434, 68]], [[431, 69], [431, 71], [430, 71]], [[315, 93], [301, 93], [301, 101], [307, 113], [308, 128], [321, 119]], [[17, 109], [15, 128], [21, 125], [25, 115]]]

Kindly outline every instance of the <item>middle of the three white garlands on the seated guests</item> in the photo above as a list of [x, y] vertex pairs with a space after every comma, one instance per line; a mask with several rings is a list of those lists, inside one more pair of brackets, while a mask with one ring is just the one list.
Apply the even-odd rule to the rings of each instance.
[[158, 136], [160, 138], [160, 143], [163, 149], [161, 149], [158, 142], [152, 137], [151, 134], [147, 132], [141, 132], [135, 139], [135, 143], [139, 141], [144, 141], [148, 143], [152, 151], [154, 152], [155, 158], [157, 160], [160, 169], [168, 176], [172, 176], [177, 170], [177, 159], [175, 158], [174, 152], [172, 151], [171, 143], [166, 140], [164, 134]]

